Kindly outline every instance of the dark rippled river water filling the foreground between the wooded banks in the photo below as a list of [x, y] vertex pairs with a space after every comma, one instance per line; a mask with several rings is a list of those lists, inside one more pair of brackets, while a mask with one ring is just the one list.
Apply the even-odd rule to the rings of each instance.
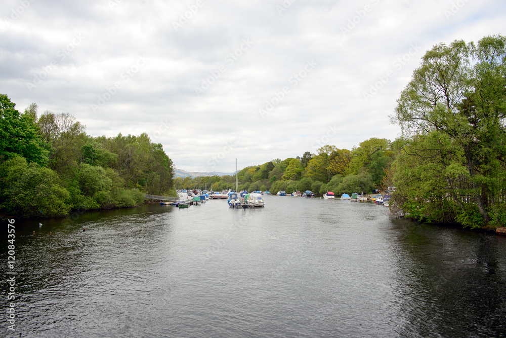
[[18, 220], [8, 335], [506, 336], [506, 237], [395, 220], [372, 203], [265, 200]]

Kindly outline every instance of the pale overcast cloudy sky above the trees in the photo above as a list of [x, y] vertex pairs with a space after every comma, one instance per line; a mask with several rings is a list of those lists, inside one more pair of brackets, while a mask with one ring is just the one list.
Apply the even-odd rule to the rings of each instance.
[[0, 14], [0, 93], [18, 110], [147, 133], [199, 172], [394, 140], [426, 51], [506, 34], [503, 0], [4, 0]]

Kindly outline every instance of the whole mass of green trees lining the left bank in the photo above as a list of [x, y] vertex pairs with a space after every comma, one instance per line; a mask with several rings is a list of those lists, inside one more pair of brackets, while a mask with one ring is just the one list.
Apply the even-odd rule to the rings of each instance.
[[59, 217], [175, 195], [172, 161], [148, 135], [92, 137], [67, 113], [21, 114], [0, 94], [0, 212]]

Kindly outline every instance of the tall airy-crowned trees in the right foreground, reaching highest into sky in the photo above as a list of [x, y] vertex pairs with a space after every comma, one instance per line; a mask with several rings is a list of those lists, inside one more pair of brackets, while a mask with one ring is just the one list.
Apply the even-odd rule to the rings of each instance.
[[478, 47], [463, 41], [435, 46], [415, 69], [392, 117], [412, 137], [404, 153], [424, 158], [424, 166], [440, 165], [433, 174], [444, 178], [445, 191], [427, 202], [450, 198], [448, 214], [471, 227], [503, 217], [505, 45], [499, 35], [484, 37]]

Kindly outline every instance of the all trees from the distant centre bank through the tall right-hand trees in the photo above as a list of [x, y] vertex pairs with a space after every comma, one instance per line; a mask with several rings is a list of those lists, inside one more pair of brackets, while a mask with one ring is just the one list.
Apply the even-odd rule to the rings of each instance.
[[[370, 138], [351, 151], [276, 159], [239, 171], [239, 189], [335, 194], [395, 186], [406, 216], [464, 227], [506, 224], [506, 38], [455, 41], [429, 50], [401, 92], [395, 141]], [[177, 178], [175, 186], [235, 186], [234, 176]]]

